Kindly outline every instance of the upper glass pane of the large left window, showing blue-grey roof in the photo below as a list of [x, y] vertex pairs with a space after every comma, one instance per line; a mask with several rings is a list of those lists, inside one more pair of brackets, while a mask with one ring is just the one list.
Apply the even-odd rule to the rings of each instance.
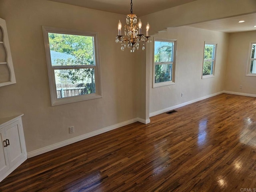
[[94, 37], [48, 33], [52, 66], [95, 65]]

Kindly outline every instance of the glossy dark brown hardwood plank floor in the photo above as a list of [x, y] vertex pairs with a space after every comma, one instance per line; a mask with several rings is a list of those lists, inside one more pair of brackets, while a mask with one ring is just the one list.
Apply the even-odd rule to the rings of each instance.
[[221, 94], [26, 160], [0, 192], [250, 192], [256, 98]]

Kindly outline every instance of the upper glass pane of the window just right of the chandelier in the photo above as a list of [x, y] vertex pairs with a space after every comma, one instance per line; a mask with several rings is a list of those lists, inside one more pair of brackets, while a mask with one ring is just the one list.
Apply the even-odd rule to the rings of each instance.
[[155, 62], [172, 62], [174, 42], [155, 41]]

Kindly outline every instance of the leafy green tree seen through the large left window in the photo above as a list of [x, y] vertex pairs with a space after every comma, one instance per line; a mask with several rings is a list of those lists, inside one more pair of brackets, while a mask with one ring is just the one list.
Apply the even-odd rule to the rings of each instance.
[[[50, 50], [73, 56], [68, 59], [58, 58], [54, 60], [56, 65], [94, 65], [92, 36], [48, 33], [48, 37]], [[81, 94], [90, 94], [95, 92], [94, 70], [91, 68], [67, 69], [65, 71], [59, 70], [57, 74], [62, 79], [71, 80], [72, 84], [83, 84], [90, 79], [90, 84], [86, 87], [86, 92], [82, 92]]]

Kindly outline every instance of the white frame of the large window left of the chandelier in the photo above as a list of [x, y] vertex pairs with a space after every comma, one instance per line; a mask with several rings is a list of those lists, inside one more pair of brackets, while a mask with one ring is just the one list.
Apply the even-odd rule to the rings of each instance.
[[[96, 98], [102, 98], [101, 77], [100, 77], [101, 76], [100, 75], [100, 46], [99, 46], [98, 32], [65, 29], [65, 28], [57, 28], [57, 27], [49, 27], [49, 26], [42, 26], [42, 30], [43, 30], [43, 36], [44, 36], [44, 47], [45, 47], [45, 53], [46, 53], [46, 62], [47, 62], [47, 69], [48, 69], [48, 78], [49, 78], [52, 106], [68, 104], [73, 102], [80, 102], [80, 101], [96, 99]], [[88, 65], [88, 66], [82, 66], [82, 67], [81, 66], [68, 66], [68, 67], [52, 66], [48, 33], [93, 36], [95, 65]], [[94, 68], [96, 92], [91, 94], [57, 98], [54, 69], [56, 70], [56, 69], [74, 69], [74, 68]]]

